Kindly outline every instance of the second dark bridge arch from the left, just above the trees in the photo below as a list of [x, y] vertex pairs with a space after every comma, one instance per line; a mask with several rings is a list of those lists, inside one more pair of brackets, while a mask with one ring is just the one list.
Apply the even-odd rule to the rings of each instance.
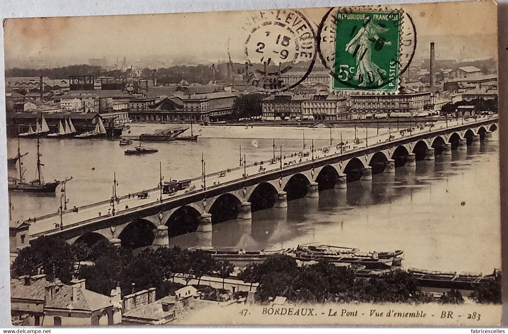
[[150, 246], [155, 239], [157, 227], [147, 219], [137, 219], [130, 222], [118, 235], [121, 245], [126, 248]]

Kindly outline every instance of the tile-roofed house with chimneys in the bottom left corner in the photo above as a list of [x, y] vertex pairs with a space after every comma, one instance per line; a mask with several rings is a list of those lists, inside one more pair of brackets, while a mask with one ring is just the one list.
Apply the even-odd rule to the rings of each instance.
[[99, 326], [121, 323], [120, 288], [103, 295], [47, 275], [11, 279], [11, 320], [21, 326]]

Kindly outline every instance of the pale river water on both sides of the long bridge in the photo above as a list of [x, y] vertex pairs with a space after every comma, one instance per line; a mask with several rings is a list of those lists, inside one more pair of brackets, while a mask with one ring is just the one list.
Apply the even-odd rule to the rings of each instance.
[[[277, 151], [279, 145], [283, 154], [301, 151], [303, 140], [296, 138], [302, 130], [283, 131], [287, 139], [276, 139]], [[368, 131], [374, 134], [376, 129]], [[329, 129], [305, 133], [307, 138], [315, 138], [316, 147], [330, 142]], [[333, 138], [339, 133], [343, 140], [354, 138], [352, 129], [334, 129]], [[123, 195], [156, 187], [159, 162], [166, 179], [183, 179], [200, 175], [201, 153], [207, 173], [237, 167], [240, 145], [247, 163], [269, 159], [273, 148], [267, 137], [203, 136], [198, 142], [153, 143], [159, 152], [144, 157], [124, 156], [125, 146], [118, 146], [117, 141], [42, 139], [41, 152], [46, 180], [73, 176], [66, 189], [68, 207], [72, 208], [108, 199], [114, 172], [118, 194]], [[310, 140], [306, 143], [308, 148]], [[21, 152], [29, 153], [23, 157], [26, 179], [35, 176], [36, 144], [35, 139], [21, 140]], [[16, 150], [17, 139], [9, 139], [9, 156]], [[467, 151], [453, 151], [451, 160], [437, 156], [435, 162], [418, 162], [416, 172], [397, 168], [395, 175], [374, 175], [371, 187], [351, 182], [346, 191], [328, 190], [318, 199], [290, 201], [287, 209], [254, 212], [251, 222], [222, 222], [213, 226], [208, 237], [189, 233], [172, 238], [170, 243], [247, 250], [310, 242], [364, 250], [402, 249], [404, 268], [490, 273], [501, 264], [498, 160], [494, 132], [492, 141]], [[16, 173], [16, 169], [9, 170], [9, 175]], [[60, 205], [59, 190], [56, 196], [13, 192], [12, 220], [55, 212]]]

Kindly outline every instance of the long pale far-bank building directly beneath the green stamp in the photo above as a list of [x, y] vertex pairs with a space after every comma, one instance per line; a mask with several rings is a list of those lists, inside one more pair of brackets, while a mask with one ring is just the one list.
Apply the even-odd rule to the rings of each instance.
[[432, 109], [431, 92], [351, 95], [353, 119], [426, 116]]

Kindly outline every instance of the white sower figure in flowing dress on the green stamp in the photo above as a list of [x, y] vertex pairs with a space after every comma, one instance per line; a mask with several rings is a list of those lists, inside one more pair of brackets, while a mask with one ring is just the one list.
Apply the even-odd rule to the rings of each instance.
[[367, 17], [358, 33], [346, 45], [346, 51], [356, 57], [357, 70], [353, 79], [360, 83], [358, 86], [364, 87], [374, 82], [378, 82], [380, 85], [382, 75], [386, 75], [386, 71], [374, 64], [370, 58], [371, 43], [374, 43], [376, 51], [381, 50], [385, 44], [392, 44], [392, 42], [386, 42], [384, 38], [378, 36], [379, 33], [385, 31], [388, 31], [388, 29], [385, 28], [384, 24], [375, 25], [372, 23], [372, 19]]

